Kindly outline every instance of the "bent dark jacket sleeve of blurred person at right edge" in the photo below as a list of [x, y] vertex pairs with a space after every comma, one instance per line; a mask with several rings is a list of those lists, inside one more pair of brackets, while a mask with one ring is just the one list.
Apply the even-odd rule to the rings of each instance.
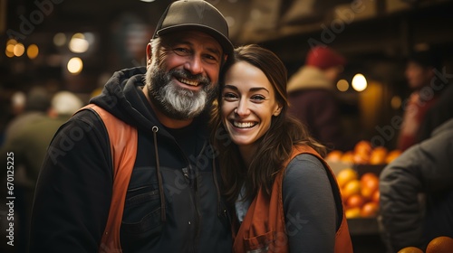
[[414, 145], [381, 172], [381, 218], [384, 238], [393, 251], [422, 247], [424, 205], [420, 193], [448, 189], [453, 181], [451, 171], [453, 137], [439, 135]]

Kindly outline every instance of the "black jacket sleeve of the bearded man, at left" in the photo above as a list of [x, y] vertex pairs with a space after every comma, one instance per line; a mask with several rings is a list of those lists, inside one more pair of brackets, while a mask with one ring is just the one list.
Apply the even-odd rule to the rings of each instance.
[[99, 117], [82, 111], [60, 127], [48, 147], [36, 184], [30, 252], [97, 252], [111, 186], [106, 130]]

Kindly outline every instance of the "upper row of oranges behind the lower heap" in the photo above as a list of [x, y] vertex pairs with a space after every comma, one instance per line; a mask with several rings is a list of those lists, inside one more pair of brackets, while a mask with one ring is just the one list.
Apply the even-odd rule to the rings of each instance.
[[361, 140], [354, 149], [346, 152], [333, 150], [326, 155], [327, 162], [343, 162], [348, 164], [390, 164], [401, 154], [400, 149], [389, 151], [384, 146], [372, 147], [371, 143]]

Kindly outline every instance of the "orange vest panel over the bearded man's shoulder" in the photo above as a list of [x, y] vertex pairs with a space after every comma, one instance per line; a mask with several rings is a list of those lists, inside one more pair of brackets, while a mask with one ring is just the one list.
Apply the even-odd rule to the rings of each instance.
[[99, 252], [122, 252], [120, 245], [120, 226], [126, 192], [130, 182], [130, 175], [137, 156], [138, 134], [137, 128], [132, 127], [118, 117], [114, 117], [103, 108], [90, 104], [82, 109], [91, 109], [97, 113], [107, 129], [111, 145], [111, 159], [113, 164], [113, 187], [111, 194], [111, 208], [105, 230], [102, 234]]

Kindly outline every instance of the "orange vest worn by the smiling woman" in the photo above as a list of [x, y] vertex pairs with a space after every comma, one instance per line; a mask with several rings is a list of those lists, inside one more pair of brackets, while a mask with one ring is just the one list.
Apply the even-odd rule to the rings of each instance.
[[[288, 237], [284, 221], [283, 207], [283, 178], [287, 164], [296, 155], [311, 154], [317, 156], [323, 165], [331, 173], [331, 183], [333, 184], [334, 196], [341, 196], [340, 189], [336, 183], [335, 175], [323, 158], [308, 145], [294, 146], [291, 157], [284, 163], [283, 169], [275, 176], [271, 195], [263, 189], [259, 190], [254, 201], [251, 203], [246, 217], [234, 235], [233, 251], [244, 252], [289, 252]], [[336, 194], [338, 193], [338, 194]], [[337, 210], [342, 212], [342, 223], [336, 231], [335, 253], [352, 252], [352, 240], [349, 234], [348, 223], [344, 216], [344, 209], [340, 200], [335, 200]]]

